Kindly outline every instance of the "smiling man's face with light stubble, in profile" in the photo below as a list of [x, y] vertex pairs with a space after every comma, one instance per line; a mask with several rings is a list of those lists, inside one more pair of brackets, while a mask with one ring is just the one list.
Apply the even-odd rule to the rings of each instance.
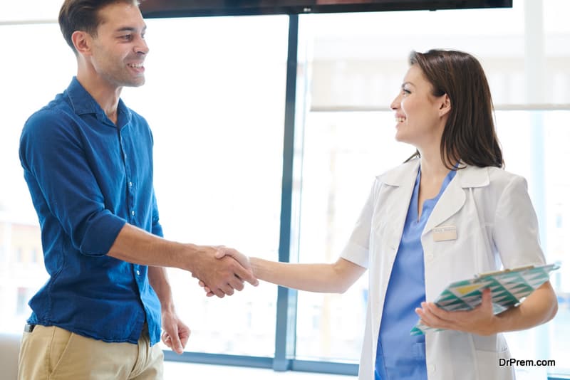
[[116, 88], [143, 85], [148, 47], [146, 25], [138, 6], [110, 4], [100, 9], [99, 17], [91, 60], [95, 73]]

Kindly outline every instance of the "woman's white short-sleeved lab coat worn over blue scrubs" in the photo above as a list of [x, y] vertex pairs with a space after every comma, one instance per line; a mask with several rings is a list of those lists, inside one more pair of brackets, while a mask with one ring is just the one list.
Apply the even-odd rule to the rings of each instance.
[[[374, 379], [385, 292], [419, 164], [415, 159], [376, 177], [341, 255], [369, 269], [359, 380]], [[457, 239], [434, 241], [432, 229], [442, 226], [455, 226]], [[425, 296], [430, 301], [452, 281], [472, 278], [476, 273], [498, 270], [501, 265], [544, 264], [527, 182], [496, 167], [457, 171], [427, 220], [421, 241]], [[481, 337], [456, 331], [430, 332], [425, 351], [429, 380], [514, 379], [512, 367], [499, 366], [499, 358], [510, 357], [502, 334]]]

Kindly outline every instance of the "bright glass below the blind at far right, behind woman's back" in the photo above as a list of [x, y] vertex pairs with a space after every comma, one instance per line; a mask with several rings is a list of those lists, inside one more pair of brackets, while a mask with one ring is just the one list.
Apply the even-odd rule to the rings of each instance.
[[[556, 366], [519, 368], [522, 373], [541, 376], [570, 373], [570, 181], [565, 162], [569, 153], [569, 111], [497, 112], [507, 169], [525, 176], [540, 224], [541, 246], [549, 263], [561, 268], [551, 275], [558, 295], [559, 312], [548, 324], [524, 332], [507, 334], [509, 347], [517, 359], [554, 359]], [[534, 377], [537, 378], [537, 377]]]

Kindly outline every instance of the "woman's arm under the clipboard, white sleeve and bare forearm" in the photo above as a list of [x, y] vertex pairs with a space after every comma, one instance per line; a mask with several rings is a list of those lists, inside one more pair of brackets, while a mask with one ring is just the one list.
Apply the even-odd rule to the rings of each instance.
[[[527, 191], [527, 181], [512, 176], [505, 186], [494, 215], [494, 244], [505, 268], [544, 263], [539, 244], [538, 221]], [[494, 315], [490, 290], [485, 290], [482, 303], [474, 310], [447, 312], [432, 302], [422, 302], [415, 312], [424, 324], [442, 329], [455, 329], [474, 334], [529, 329], [554, 318], [558, 311], [556, 294], [550, 282], [534, 290], [517, 307]]]

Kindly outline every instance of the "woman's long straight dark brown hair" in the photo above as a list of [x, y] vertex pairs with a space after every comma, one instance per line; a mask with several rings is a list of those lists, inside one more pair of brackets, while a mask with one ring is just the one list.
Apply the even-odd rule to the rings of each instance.
[[[476, 167], [503, 167], [491, 91], [477, 58], [462, 51], [412, 51], [409, 63], [422, 70], [434, 96], [447, 94], [450, 98], [450, 116], [440, 145], [445, 166], [453, 169], [461, 160]], [[419, 155], [416, 152], [412, 157]]]

